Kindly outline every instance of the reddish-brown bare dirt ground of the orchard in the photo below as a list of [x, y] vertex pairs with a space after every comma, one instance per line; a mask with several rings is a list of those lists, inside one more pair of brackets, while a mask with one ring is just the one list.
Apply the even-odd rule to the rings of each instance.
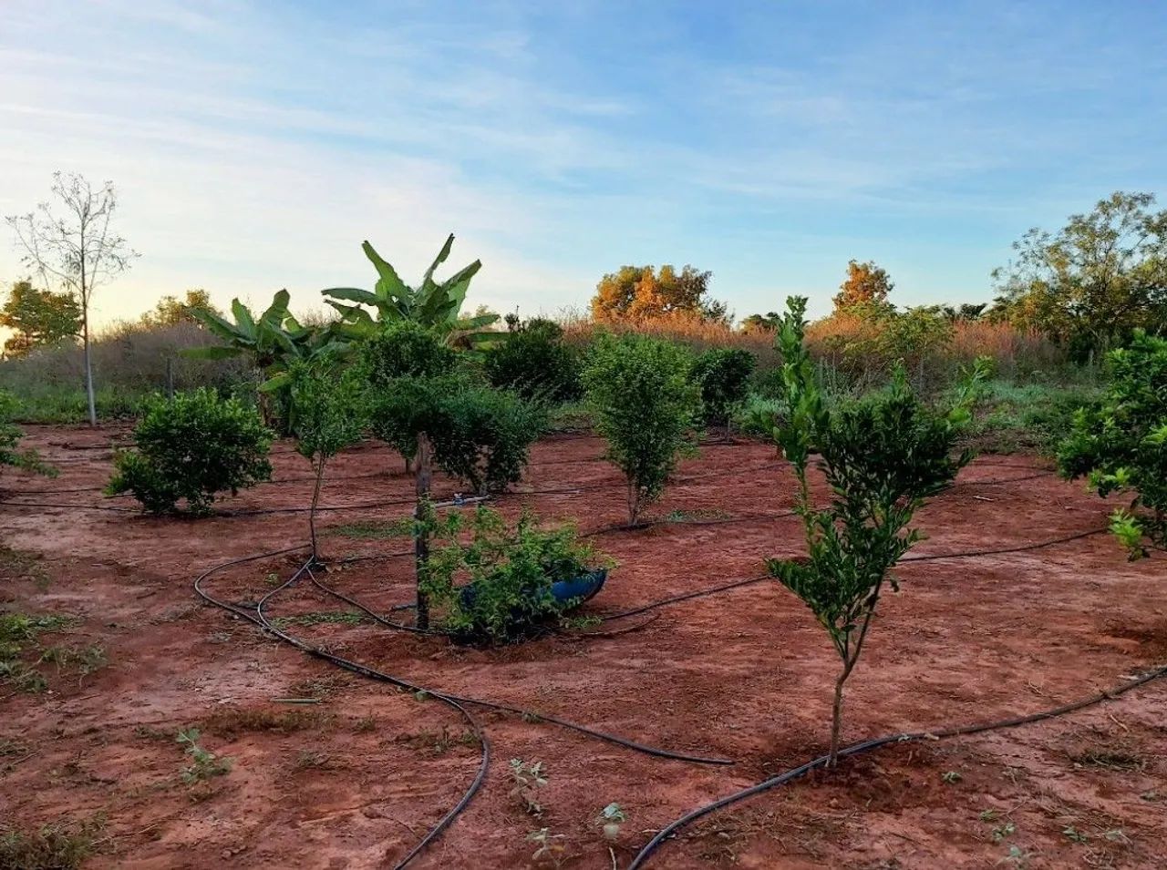
[[[7, 610], [75, 617], [44, 646], [102, 647], [88, 675], [41, 666], [48, 689], [0, 683], [0, 828], [89, 821], [104, 868], [392, 867], [457, 801], [480, 745], [449, 707], [345, 673], [201, 603], [191, 582], [235, 557], [301, 543], [307, 463], [275, 448], [275, 480], [200, 520], [151, 519], [99, 491], [125, 429], [33, 429], [48, 480], [0, 480]], [[589, 437], [541, 442], [509, 496], [582, 531], [624, 520], [614, 469]], [[1111, 505], [1033, 457], [984, 457], [918, 517], [916, 555], [1005, 549], [1105, 526]], [[619, 566], [587, 613], [613, 613], [762, 573], [801, 549], [784, 514], [792, 478], [760, 444], [710, 444], [652, 517], [601, 531]], [[328, 472], [323, 549], [387, 556], [408, 540], [338, 534], [407, 507], [412, 480], [362, 445]], [[607, 485], [614, 484], [614, 485]], [[442, 492], [453, 492], [439, 482]], [[18, 506], [21, 503], [22, 506]], [[39, 504], [34, 504], [39, 503]], [[71, 505], [67, 507], [43, 506]], [[247, 513], [291, 508], [277, 513]], [[778, 514], [778, 515], [775, 515]], [[678, 521], [680, 520], [680, 521]], [[700, 522], [693, 520], [701, 520]], [[712, 521], [718, 520], [718, 521]], [[34, 557], [35, 556], [35, 557]], [[210, 594], [254, 602], [292, 555], [225, 569]], [[906, 562], [850, 683], [848, 741], [1056, 707], [1167, 661], [1167, 561], [1128, 563], [1105, 534], [997, 555]], [[327, 583], [379, 611], [411, 598], [411, 562], [366, 559]], [[810, 612], [773, 581], [503, 650], [453, 646], [355, 618], [301, 582], [270, 602], [289, 633], [424, 687], [505, 702], [652, 746], [732, 759], [664, 760], [537, 717], [475, 710], [491, 760], [482, 791], [413, 865], [623, 868], [683, 813], [824, 751], [837, 659]], [[282, 701], [279, 699], [284, 699]], [[287, 699], [313, 700], [288, 703]], [[187, 784], [190, 727], [230, 771]], [[907, 743], [753, 798], [686, 828], [657, 868], [1158, 868], [1167, 855], [1167, 680], [1040, 724]], [[510, 759], [541, 762], [541, 815], [513, 793]], [[596, 819], [628, 815], [605, 840]], [[529, 834], [561, 847], [532, 858]]]

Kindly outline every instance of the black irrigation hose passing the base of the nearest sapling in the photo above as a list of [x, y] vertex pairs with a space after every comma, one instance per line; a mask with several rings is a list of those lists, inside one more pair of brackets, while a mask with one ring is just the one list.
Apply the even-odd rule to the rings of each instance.
[[[983, 731], [994, 731], [1005, 728], [1018, 728], [1019, 725], [1027, 725], [1034, 722], [1042, 722], [1044, 720], [1050, 720], [1056, 716], [1064, 716], [1065, 714], [1075, 713], [1086, 707], [1092, 707], [1104, 701], [1112, 701], [1119, 695], [1130, 692], [1131, 689], [1148, 683], [1152, 680], [1158, 680], [1159, 678], [1165, 675], [1167, 675], [1167, 667], [1159, 667], [1153, 671], [1148, 671], [1142, 676], [1139, 676], [1135, 680], [1131, 680], [1130, 682], [1125, 682], [1111, 689], [1105, 689], [1096, 695], [1091, 695], [1090, 697], [1071, 701], [1068, 704], [1055, 707], [1054, 709], [1050, 710], [1042, 710], [1040, 713], [1029, 714], [1027, 716], [1014, 716], [1012, 718], [1000, 720], [998, 722], [987, 722], [973, 725], [960, 725], [957, 728], [946, 728], [938, 731], [915, 731], [911, 734], [892, 734], [892, 735], [885, 735], [883, 737], [873, 737], [871, 739], [860, 741], [859, 743], [853, 743], [850, 746], [840, 749], [839, 757], [846, 758], [848, 756], [859, 755], [861, 752], [868, 752], [873, 749], [886, 746], [889, 743], [907, 743], [909, 741], [958, 737], [963, 735], [980, 734]], [[637, 853], [636, 857], [633, 858], [633, 863], [628, 865], [628, 870], [637, 870], [638, 868], [643, 867], [644, 863], [649, 860], [649, 856], [651, 856], [652, 853], [655, 853], [657, 848], [659, 848], [659, 846], [665, 840], [671, 837], [678, 829], [685, 827], [690, 822], [693, 822], [705, 815], [708, 815], [710, 813], [717, 812], [722, 807], [727, 807], [731, 804], [736, 804], [738, 801], [752, 798], [755, 794], [761, 794], [762, 792], [769, 791], [770, 788], [775, 788], [780, 785], [790, 783], [795, 779], [805, 776], [806, 773], [810, 773], [812, 770], [817, 770], [818, 767], [825, 767], [829, 760], [830, 756], [819, 756], [818, 758], [806, 762], [805, 764], [802, 764], [798, 767], [788, 770], [784, 773], [780, 773], [776, 777], [771, 777], [770, 779], [763, 780], [757, 785], [753, 785], [748, 788], [742, 788], [741, 791], [734, 792], [733, 794], [728, 794], [725, 798], [719, 798], [712, 804], [706, 804], [703, 807], [698, 807], [697, 809], [686, 813], [685, 815], [670, 822], [659, 832], [657, 832], [656, 836], [654, 836], [644, 846], [644, 848], [641, 849], [640, 853]]]

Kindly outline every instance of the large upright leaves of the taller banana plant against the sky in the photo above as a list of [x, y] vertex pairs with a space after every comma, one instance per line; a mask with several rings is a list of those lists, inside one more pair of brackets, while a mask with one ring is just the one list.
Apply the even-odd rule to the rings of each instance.
[[[340, 311], [342, 322], [337, 334], [347, 338], [363, 339], [373, 335], [378, 327], [393, 321], [413, 321], [440, 334], [447, 343], [456, 341], [470, 343], [497, 336], [470, 335], [483, 327], [489, 327], [498, 320], [496, 314], [461, 317], [462, 303], [466, 301], [470, 279], [482, 268], [482, 261], [475, 260], [469, 266], [459, 269], [441, 283], [434, 280], [434, 272], [446, 262], [454, 236], [450, 234], [442, 245], [433, 264], [421, 276], [419, 287], [410, 287], [385, 259], [373, 250], [368, 241], [361, 245], [369, 261], [377, 269], [377, 283], [372, 290], [357, 287], [330, 287], [321, 290], [328, 304]], [[349, 304], [355, 302], [356, 304]], [[370, 314], [366, 308], [372, 309]]]

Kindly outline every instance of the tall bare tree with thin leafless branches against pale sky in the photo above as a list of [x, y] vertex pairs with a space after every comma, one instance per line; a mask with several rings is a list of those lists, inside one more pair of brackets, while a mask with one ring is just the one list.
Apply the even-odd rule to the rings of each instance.
[[[110, 231], [118, 199], [113, 182], [97, 190], [77, 173], [53, 174], [54, 203], [36, 211], [5, 218], [25, 248], [22, 261], [35, 268], [48, 286], [56, 280], [81, 300], [82, 341], [85, 346], [85, 393], [89, 422], [97, 425], [93, 402], [93, 367], [90, 362], [89, 303], [93, 290], [130, 268], [139, 254]], [[58, 211], [54, 211], [56, 208]]]

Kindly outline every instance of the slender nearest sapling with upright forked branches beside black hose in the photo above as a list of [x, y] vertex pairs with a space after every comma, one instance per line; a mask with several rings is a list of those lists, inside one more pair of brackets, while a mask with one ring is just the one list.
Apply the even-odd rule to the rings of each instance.
[[[844, 685], [859, 661], [885, 583], [899, 590], [890, 569], [922, 538], [909, 527], [913, 515], [971, 459], [955, 448], [987, 367], [978, 360], [943, 413], [921, 405], [902, 369], [885, 391], [829, 408], [803, 341], [806, 300], [791, 297], [788, 306], [778, 332], [787, 391], [774, 438], [798, 478], [795, 510], [805, 526], [808, 556], [769, 559], [767, 567], [811, 609], [843, 660], [834, 683], [833, 765]], [[815, 454], [831, 491], [824, 508], [812, 504], [808, 480]]]

